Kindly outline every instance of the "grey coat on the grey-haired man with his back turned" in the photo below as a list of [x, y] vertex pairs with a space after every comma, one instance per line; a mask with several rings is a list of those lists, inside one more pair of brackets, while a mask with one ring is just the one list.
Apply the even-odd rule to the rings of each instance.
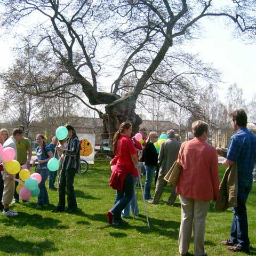
[[159, 150], [158, 164], [160, 166], [159, 174], [166, 174], [173, 163], [177, 160], [181, 142], [174, 138], [163, 142]]

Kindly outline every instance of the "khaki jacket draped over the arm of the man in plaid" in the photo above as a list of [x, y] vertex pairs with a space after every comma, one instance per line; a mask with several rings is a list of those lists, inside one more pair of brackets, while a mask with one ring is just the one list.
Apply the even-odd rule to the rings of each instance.
[[216, 211], [226, 211], [237, 206], [237, 164], [228, 167], [220, 183], [220, 195], [215, 203]]

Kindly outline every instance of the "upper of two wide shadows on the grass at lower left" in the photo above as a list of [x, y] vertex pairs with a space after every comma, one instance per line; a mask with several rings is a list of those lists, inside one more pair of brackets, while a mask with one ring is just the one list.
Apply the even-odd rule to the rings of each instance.
[[39, 214], [29, 214], [25, 212], [19, 212], [19, 215], [15, 218], [1, 218], [0, 221], [5, 226], [15, 227], [36, 227], [38, 229], [67, 229], [68, 226], [59, 225], [61, 223], [58, 219], [43, 218]]

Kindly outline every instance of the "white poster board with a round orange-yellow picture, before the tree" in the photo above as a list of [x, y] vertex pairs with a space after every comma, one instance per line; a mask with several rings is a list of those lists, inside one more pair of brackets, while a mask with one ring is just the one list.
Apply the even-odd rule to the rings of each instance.
[[95, 134], [78, 134], [81, 143], [80, 158], [87, 163], [94, 163]]

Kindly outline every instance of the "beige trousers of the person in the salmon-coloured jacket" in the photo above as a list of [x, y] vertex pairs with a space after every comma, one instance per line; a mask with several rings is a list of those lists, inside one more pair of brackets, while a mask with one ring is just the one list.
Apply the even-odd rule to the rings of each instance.
[[179, 234], [179, 252], [186, 254], [189, 249], [192, 228], [194, 230], [194, 255], [203, 256], [205, 218], [209, 211], [210, 201], [199, 201], [180, 195], [181, 223]]

